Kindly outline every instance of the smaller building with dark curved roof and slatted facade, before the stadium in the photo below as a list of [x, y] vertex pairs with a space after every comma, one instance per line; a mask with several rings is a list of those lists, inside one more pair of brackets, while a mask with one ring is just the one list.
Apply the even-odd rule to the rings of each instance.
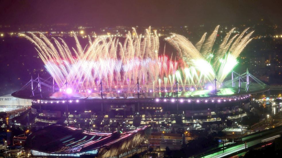
[[30, 157], [131, 157], [147, 151], [150, 137], [150, 125], [126, 133], [49, 125], [32, 132], [26, 139], [25, 148], [30, 151]]

